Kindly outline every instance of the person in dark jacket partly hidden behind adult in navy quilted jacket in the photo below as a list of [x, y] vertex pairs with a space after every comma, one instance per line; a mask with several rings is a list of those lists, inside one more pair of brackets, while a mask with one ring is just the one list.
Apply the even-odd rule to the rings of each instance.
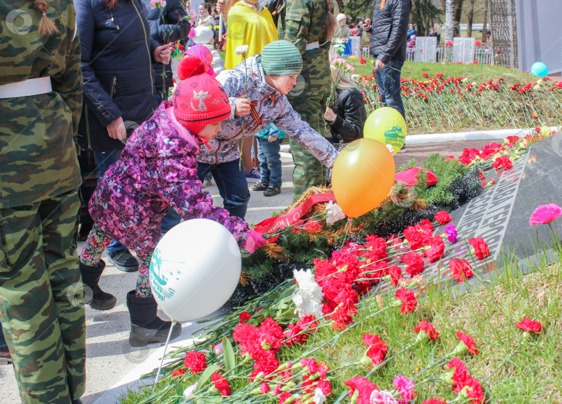
[[[142, 0], [144, 8], [148, 10], [148, 24], [151, 26], [151, 37], [159, 44], [170, 44], [187, 38], [191, 24], [187, 20], [187, 12], [180, 0], [167, 0], [162, 8], [150, 8], [150, 0]], [[158, 103], [168, 98], [168, 90], [173, 87], [171, 62], [165, 65], [166, 81], [163, 80], [164, 65], [155, 63], [154, 85]]]

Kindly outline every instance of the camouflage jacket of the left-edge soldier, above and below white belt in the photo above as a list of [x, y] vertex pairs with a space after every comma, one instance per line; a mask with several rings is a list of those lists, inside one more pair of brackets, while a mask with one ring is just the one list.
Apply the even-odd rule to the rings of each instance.
[[33, 1], [0, 2], [0, 85], [51, 77], [52, 92], [0, 99], [0, 208], [76, 189], [74, 137], [82, 108], [80, 42], [71, 0], [49, 1], [58, 33], [42, 37]]

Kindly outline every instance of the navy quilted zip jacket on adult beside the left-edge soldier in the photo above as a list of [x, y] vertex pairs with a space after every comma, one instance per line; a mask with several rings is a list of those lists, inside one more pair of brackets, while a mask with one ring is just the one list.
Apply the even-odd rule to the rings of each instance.
[[106, 126], [119, 117], [142, 121], [157, 107], [153, 54], [146, 9], [140, 0], [120, 0], [107, 8], [104, 0], [75, 0], [82, 50], [84, 106], [78, 135], [80, 145], [94, 151], [124, 148], [108, 135]]

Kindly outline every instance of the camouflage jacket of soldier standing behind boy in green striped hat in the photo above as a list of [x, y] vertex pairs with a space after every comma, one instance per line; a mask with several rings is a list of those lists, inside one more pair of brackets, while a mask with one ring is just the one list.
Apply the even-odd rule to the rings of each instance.
[[[294, 44], [303, 56], [303, 71], [289, 99], [330, 92], [332, 76], [327, 40], [327, 12], [324, 0], [287, 0], [279, 13], [279, 39]], [[307, 44], [319, 47], [306, 50]]]

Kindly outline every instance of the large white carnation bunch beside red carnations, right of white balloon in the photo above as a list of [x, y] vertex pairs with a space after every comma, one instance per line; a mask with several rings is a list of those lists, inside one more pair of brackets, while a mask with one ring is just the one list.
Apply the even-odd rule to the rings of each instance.
[[295, 314], [299, 318], [314, 315], [322, 316], [322, 299], [324, 294], [310, 269], [307, 271], [293, 270], [293, 275], [298, 283], [298, 289], [293, 293], [293, 303], [295, 303]]

